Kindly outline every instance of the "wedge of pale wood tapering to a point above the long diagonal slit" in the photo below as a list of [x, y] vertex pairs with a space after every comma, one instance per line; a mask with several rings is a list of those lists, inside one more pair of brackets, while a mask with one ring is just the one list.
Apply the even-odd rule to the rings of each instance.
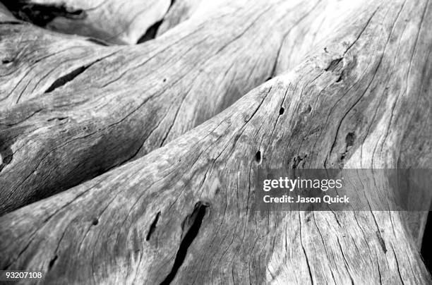
[[121, 50], [18, 20], [0, 23], [0, 37], [0, 109], [51, 92], [92, 63]]

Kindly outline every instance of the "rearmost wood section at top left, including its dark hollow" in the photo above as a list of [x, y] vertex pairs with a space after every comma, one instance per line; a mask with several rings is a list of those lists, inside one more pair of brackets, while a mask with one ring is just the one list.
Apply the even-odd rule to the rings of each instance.
[[[180, 0], [181, 2], [181, 0]], [[56, 32], [95, 37], [113, 44], [136, 44], [167, 13], [170, 0], [6, 1], [23, 18]]]

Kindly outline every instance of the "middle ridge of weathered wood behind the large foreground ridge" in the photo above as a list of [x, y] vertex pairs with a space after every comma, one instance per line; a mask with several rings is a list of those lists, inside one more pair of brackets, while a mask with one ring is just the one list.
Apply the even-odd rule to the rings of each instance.
[[79, 67], [61, 78], [51, 71], [55, 56], [37, 64], [49, 75], [24, 74], [18, 85], [42, 85], [39, 92], [30, 85], [9, 98], [49, 94], [0, 114], [0, 212], [141, 157], [222, 111], [272, 76], [284, 36], [309, 25], [315, 8], [323, 5], [220, 2], [152, 42], [85, 50], [90, 62], [80, 54]]

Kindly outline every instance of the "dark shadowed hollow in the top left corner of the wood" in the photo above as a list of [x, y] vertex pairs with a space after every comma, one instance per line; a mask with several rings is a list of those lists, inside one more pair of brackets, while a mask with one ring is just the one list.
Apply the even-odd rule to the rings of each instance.
[[26, 0], [1, 1], [9, 11], [20, 20], [46, 26], [56, 17], [83, 19], [87, 16], [82, 9], [72, 9], [65, 5], [29, 4]]

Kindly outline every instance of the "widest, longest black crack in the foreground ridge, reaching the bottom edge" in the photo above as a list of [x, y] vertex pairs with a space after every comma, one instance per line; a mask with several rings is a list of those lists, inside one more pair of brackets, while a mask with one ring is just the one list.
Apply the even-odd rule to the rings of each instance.
[[200, 231], [207, 207], [209, 207], [207, 203], [203, 203], [201, 201], [197, 202], [193, 208], [192, 214], [186, 217], [184, 222], [181, 224], [181, 228], [184, 232], [186, 231], [186, 234], [181, 240], [179, 250], [177, 250], [176, 259], [174, 260], [174, 265], [172, 266], [171, 272], [169, 272], [167, 277], [162, 281], [161, 285], [170, 284], [172, 280], [174, 280], [174, 277], [176, 277], [176, 273], [179, 271], [179, 268], [186, 258], [186, 253], [188, 252], [189, 246], [192, 244], [193, 240]]

